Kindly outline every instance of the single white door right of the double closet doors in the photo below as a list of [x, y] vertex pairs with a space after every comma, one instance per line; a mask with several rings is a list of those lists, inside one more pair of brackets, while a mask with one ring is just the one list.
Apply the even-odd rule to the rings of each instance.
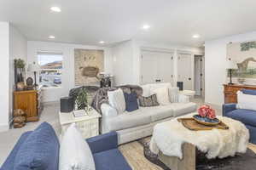
[[177, 54], [177, 82], [183, 82], [183, 90], [192, 90], [192, 55]]

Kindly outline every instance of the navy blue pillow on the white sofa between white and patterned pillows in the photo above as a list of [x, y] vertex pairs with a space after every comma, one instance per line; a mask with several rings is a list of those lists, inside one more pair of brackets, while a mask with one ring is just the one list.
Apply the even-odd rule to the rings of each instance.
[[125, 95], [125, 111], [136, 111], [137, 105], [137, 94], [131, 92], [131, 94], [124, 93]]

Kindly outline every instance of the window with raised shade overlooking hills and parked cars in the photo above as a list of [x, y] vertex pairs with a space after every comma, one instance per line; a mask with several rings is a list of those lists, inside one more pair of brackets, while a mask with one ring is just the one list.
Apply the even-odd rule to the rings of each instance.
[[39, 84], [43, 87], [60, 87], [62, 73], [63, 54], [59, 53], [38, 53]]

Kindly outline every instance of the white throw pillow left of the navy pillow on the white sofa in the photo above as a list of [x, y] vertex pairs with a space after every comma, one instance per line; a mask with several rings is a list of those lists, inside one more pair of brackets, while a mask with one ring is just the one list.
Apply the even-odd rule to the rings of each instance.
[[122, 89], [108, 91], [108, 102], [109, 105], [118, 111], [118, 114], [125, 111], [125, 96]]

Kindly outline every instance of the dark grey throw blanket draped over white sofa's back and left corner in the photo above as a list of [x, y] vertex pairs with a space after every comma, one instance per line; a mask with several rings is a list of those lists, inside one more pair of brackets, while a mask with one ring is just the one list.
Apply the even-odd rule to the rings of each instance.
[[124, 93], [130, 94], [131, 92], [135, 92], [137, 96], [143, 94], [143, 88], [137, 86], [137, 85], [124, 85], [124, 86], [119, 86], [116, 88], [100, 88], [97, 92], [96, 95], [94, 96], [94, 99], [92, 100], [91, 106], [98, 111], [99, 113], [102, 114], [101, 106], [103, 103], [108, 104], [108, 91], [113, 91], [118, 88], [121, 88]]

